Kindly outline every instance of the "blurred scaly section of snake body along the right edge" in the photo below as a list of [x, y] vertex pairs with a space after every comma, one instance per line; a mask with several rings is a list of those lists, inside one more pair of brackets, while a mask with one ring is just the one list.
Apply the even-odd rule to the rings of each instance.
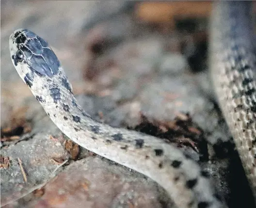
[[214, 88], [256, 198], [256, 57], [251, 2], [222, 1], [211, 20]]

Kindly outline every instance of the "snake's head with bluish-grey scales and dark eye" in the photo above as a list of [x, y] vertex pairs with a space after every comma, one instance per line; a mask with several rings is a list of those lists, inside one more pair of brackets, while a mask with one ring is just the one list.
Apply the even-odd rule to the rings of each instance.
[[24, 80], [26, 74], [52, 78], [58, 74], [60, 62], [48, 43], [27, 29], [17, 29], [9, 39], [12, 62]]

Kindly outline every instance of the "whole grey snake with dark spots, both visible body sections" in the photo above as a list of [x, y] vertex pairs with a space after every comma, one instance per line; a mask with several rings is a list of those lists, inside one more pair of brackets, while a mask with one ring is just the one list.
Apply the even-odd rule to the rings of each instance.
[[[256, 196], [256, 76], [251, 2], [213, 2], [211, 82]], [[178, 208], [222, 208], [199, 165], [163, 139], [97, 122], [74, 97], [48, 42], [28, 29], [9, 39], [13, 65], [53, 123], [81, 147], [157, 182]]]

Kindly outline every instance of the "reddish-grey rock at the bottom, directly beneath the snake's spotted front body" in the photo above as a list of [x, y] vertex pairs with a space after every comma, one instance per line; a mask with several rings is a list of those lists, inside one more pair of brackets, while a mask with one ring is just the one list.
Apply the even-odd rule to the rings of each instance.
[[136, 175], [123, 166], [88, 157], [70, 164], [49, 181], [44, 187], [44, 195], [34, 206], [161, 208], [157, 185]]

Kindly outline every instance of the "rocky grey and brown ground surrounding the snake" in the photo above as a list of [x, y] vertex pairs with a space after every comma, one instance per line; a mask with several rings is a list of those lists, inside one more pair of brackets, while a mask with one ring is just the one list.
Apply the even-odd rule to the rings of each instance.
[[[237, 166], [208, 76], [211, 1], [0, 3], [0, 171], [5, 208], [171, 206], [151, 180], [66, 141], [12, 65], [9, 36], [17, 28], [48, 41], [74, 94], [93, 118], [150, 134], [169, 129], [176, 135], [171, 142], [211, 173], [217, 197], [229, 207], [251, 207], [253, 199], [240, 176], [243, 170]], [[146, 125], [138, 127], [141, 112]], [[157, 127], [147, 128], [150, 118], [157, 120]], [[216, 138], [224, 143], [219, 149], [211, 147], [217, 156], [210, 163], [205, 140]], [[64, 171], [49, 182], [63, 163]]]

